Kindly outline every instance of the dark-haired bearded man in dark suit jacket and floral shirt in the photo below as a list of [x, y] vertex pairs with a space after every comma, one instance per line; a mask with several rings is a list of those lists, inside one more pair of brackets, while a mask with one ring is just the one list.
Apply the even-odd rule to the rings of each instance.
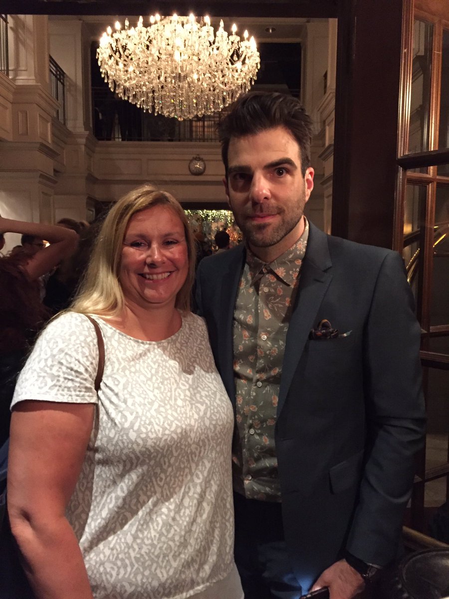
[[312, 123], [251, 92], [220, 126], [245, 244], [204, 259], [196, 302], [235, 406], [245, 599], [351, 599], [398, 552], [421, 446], [420, 326], [401, 256], [305, 219]]

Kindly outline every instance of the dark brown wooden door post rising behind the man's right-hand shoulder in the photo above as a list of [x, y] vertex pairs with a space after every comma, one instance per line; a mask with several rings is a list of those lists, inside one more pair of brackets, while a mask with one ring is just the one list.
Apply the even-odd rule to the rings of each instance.
[[339, 2], [332, 234], [390, 248], [401, 37], [402, 1]]

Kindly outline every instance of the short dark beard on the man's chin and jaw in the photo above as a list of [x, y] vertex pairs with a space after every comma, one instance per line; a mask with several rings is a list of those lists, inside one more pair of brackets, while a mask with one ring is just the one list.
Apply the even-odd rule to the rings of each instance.
[[[275, 207], [275, 213], [279, 214], [281, 217], [280, 222], [276, 225], [272, 225], [271, 223], [253, 223], [250, 220], [247, 220], [246, 216], [248, 215], [236, 217], [234, 214], [234, 218], [244, 234], [245, 240], [248, 241], [251, 246], [271, 247], [283, 240], [283, 238], [292, 232], [295, 226], [298, 225], [304, 214], [304, 206], [305, 192], [302, 193], [301, 198], [299, 198], [295, 205], [295, 210], [292, 211], [291, 207], [287, 207], [287, 209]], [[272, 208], [268, 204], [267, 206], [264, 206], [264, 210], [270, 212]], [[289, 210], [289, 214], [287, 214], [287, 210]], [[251, 212], [250, 214], [254, 214], [254, 212]]]

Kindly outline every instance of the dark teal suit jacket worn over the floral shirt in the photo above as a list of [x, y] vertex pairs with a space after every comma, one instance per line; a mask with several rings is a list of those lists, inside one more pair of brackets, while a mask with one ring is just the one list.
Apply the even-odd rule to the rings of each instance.
[[[203, 259], [198, 313], [235, 403], [232, 319], [245, 249]], [[330, 321], [347, 337], [311, 340]], [[424, 434], [420, 326], [401, 256], [310, 223], [275, 425], [284, 533], [303, 589], [348, 550], [395, 558]]]

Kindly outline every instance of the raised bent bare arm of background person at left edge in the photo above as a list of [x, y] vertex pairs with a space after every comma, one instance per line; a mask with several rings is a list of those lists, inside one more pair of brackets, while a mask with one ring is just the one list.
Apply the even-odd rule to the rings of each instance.
[[5, 219], [0, 216], [0, 231], [33, 235], [50, 241], [50, 245], [37, 252], [23, 265], [29, 279], [35, 280], [50, 272], [63, 258], [67, 258], [77, 247], [78, 235], [63, 226], [45, 223], [28, 223], [22, 220]]

